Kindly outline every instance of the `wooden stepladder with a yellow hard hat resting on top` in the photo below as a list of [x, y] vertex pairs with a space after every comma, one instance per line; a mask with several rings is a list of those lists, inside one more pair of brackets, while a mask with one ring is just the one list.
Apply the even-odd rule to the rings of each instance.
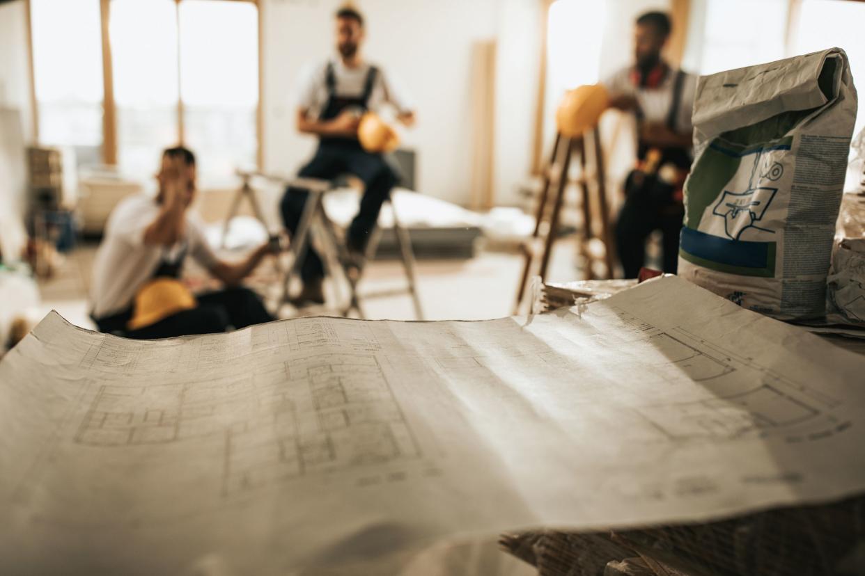
[[[553, 245], [559, 237], [561, 209], [569, 184], [571, 162], [579, 155], [580, 174], [574, 180], [578, 188], [582, 226], [578, 251], [585, 263], [587, 279], [612, 278], [613, 252], [610, 206], [606, 196], [604, 153], [598, 126], [582, 136], [568, 137], [557, 133], [553, 152], [543, 174], [541, 196], [535, 210], [535, 231], [522, 244], [525, 262], [516, 292], [515, 313], [526, 296], [529, 279], [538, 275], [546, 280]], [[603, 271], [598, 269], [603, 266]]]

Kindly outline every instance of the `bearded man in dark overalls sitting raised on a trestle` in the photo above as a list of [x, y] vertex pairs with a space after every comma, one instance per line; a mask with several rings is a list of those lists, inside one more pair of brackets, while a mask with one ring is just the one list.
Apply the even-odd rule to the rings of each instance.
[[[362, 114], [393, 105], [400, 123], [414, 123], [413, 111], [378, 66], [362, 60], [363, 17], [353, 8], [336, 12], [336, 48], [339, 58], [317, 66], [302, 85], [298, 130], [318, 136], [316, 155], [300, 169], [304, 178], [332, 180], [352, 174], [364, 185], [360, 210], [346, 235], [349, 253], [361, 261], [381, 204], [388, 199], [398, 177], [383, 155], [364, 150], [357, 138]], [[309, 193], [289, 187], [280, 204], [285, 228], [293, 236]], [[315, 250], [307, 250], [301, 265], [304, 286], [293, 299], [297, 306], [324, 303], [324, 266]]]

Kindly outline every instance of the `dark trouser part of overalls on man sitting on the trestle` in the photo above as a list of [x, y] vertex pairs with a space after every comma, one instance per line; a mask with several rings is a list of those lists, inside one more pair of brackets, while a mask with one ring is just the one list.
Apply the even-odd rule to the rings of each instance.
[[[349, 226], [347, 241], [352, 250], [366, 248], [370, 233], [375, 230], [381, 205], [399, 180], [394, 168], [381, 154], [369, 153], [358, 146], [322, 144], [312, 160], [300, 169], [302, 178], [333, 180], [340, 174], [353, 174], [363, 181], [364, 190], [361, 207]], [[280, 203], [285, 228], [292, 237], [298, 230], [300, 218], [309, 192], [304, 188], [288, 187]], [[324, 277], [321, 257], [310, 247], [301, 264], [300, 275], [304, 282]]]

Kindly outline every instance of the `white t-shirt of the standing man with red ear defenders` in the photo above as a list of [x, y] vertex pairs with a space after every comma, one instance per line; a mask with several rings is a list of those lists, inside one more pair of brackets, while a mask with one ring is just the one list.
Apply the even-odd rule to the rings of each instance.
[[[646, 88], [634, 85], [631, 80], [632, 67], [619, 70], [602, 84], [610, 92], [611, 97], [633, 96], [637, 99], [640, 110], [646, 122], [666, 123], [670, 116], [670, 106], [673, 104], [673, 88], [676, 85], [676, 70], [670, 69], [666, 78], [656, 88]], [[691, 114], [694, 112], [694, 96], [697, 87], [697, 77], [685, 73], [682, 79], [682, 99], [676, 114], [676, 132], [690, 134], [694, 130], [691, 124]]]

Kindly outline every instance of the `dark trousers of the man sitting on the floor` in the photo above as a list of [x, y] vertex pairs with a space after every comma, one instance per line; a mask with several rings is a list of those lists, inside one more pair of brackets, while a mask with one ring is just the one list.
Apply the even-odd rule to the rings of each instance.
[[126, 324], [132, 317], [131, 308], [103, 319], [93, 320], [99, 326], [99, 332], [137, 340], [225, 332], [229, 327], [240, 329], [273, 320], [259, 295], [248, 288], [228, 288], [219, 292], [201, 294], [196, 296], [195, 300], [198, 301], [198, 306], [195, 308], [172, 314], [156, 324], [138, 330], [126, 329]]

